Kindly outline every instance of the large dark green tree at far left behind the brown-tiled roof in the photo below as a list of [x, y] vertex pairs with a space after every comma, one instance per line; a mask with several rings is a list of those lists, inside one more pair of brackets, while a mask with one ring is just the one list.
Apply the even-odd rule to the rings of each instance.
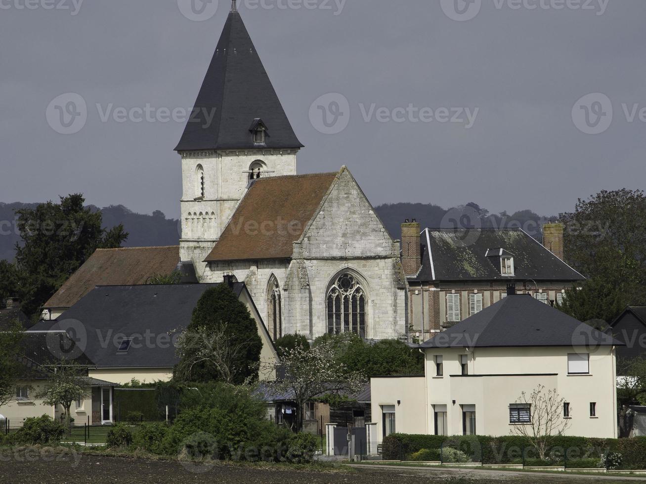
[[97, 248], [120, 247], [127, 239], [121, 225], [101, 228], [101, 212], [83, 207], [84, 202], [73, 194], [60, 203], [16, 211], [23, 243], [16, 245], [14, 267], [26, 314], [37, 314]]

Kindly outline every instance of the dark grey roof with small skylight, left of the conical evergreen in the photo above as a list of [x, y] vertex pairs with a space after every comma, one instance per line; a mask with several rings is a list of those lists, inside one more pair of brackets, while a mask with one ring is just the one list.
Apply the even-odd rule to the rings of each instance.
[[[41, 321], [30, 331], [64, 328], [74, 332], [79, 347], [99, 368], [169, 368], [177, 363], [177, 358], [170, 338], [165, 335], [185, 329], [202, 294], [216, 286], [97, 287], [57, 321]], [[244, 283], [233, 285], [238, 296], [243, 290]], [[119, 353], [118, 345], [124, 338], [136, 339], [127, 352]]]

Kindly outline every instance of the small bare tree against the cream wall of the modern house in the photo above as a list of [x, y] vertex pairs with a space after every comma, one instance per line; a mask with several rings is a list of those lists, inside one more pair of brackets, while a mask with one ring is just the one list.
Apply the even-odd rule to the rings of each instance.
[[[563, 416], [564, 403], [565, 399], [559, 396], [556, 389], [545, 392], [543, 385], [538, 385], [529, 396], [521, 393], [516, 400], [516, 405], [526, 408], [530, 421], [513, 425], [510, 432], [525, 438], [536, 449], [541, 460], [545, 460], [554, 437], [562, 435], [571, 425], [570, 419]], [[571, 412], [572, 408], [570, 415]]]

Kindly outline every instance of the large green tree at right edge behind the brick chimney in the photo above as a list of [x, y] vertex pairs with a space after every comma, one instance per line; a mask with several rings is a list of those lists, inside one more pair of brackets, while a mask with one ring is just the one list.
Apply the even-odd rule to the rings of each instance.
[[[641, 190], [602, 191], [563, 214], [565, 259], [589, 278], [570, 292], [566, 312], [612, 321], [627, 305], [646, 303], [646, 196]], [[603, 304], [595, 301], [603, 301]]]

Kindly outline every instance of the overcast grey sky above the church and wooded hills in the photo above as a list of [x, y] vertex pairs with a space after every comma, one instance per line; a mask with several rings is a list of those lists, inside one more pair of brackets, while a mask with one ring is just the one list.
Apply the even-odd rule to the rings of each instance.
[[[83, 192], [177, 217], [183, 123], [104, 122], [101, 111], [193, 106], [230, 2], [193, 21], [178, 0], [79, 1], [0, 0], [0, 201]], [[453, 0], [238, 2], [306, 145], [300, 173], [348, 165], [374, 205], [475, 201], [546, 215], [602, 189], [643, 188], [646, 2], [483, 0], [478, 11], [455, 1], [461, 17]], [[56, 4], [68, 10], [46, 8]], [[87, 103], [76, 134], [50, 126], [64, 93]], [[338, 134], [320, 132], [320, 103], [310, 115], [328, 93], [349, 104]], [[607, 98], [575, 105], [589, 93]], [[441, 108], [465, 121], [441, 122]], [[477, 109], [470, 128], [452, 110], [463, 108]]]

